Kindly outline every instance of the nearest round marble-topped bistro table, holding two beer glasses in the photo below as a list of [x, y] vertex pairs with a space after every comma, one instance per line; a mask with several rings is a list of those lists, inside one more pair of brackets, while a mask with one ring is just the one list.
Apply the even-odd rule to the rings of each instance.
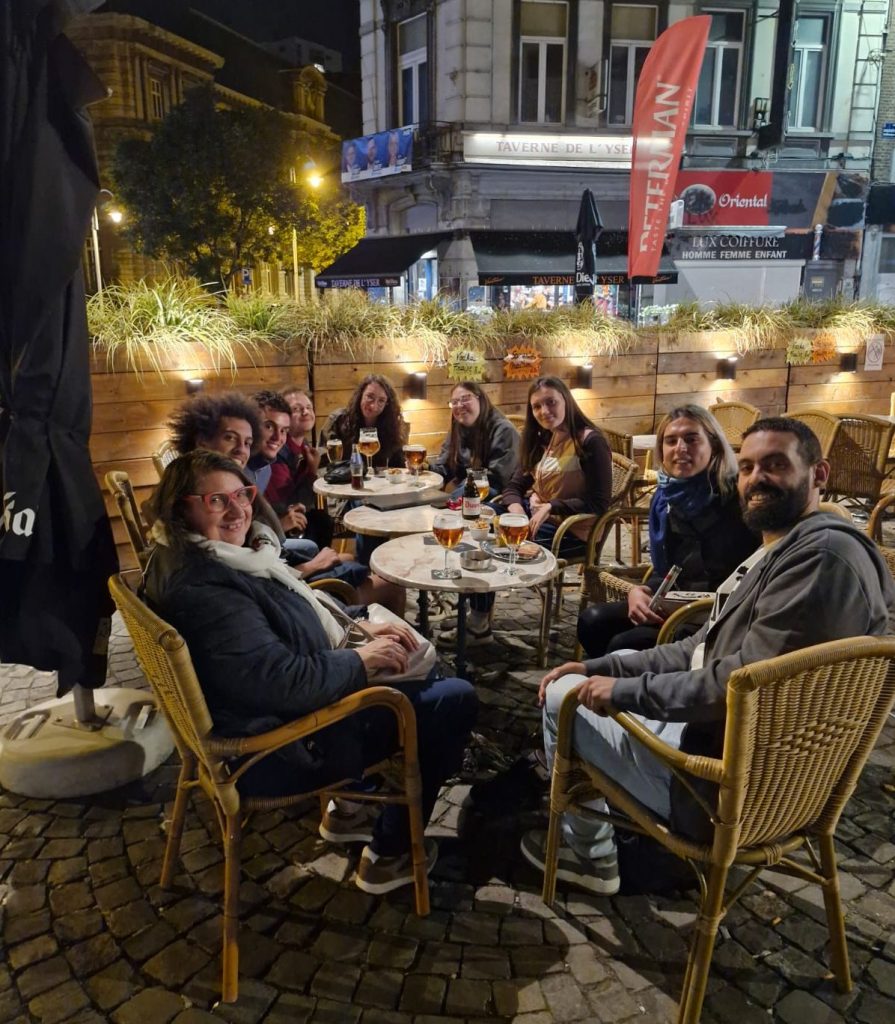
[[[432, 569], [441, 568], [444, 564], [444, 549], [432, 534], [416, 534], [387, 541], [373, 552], [370, 559], [370, 567], [377, 575], [388, 580], [389, 583], [420, 592], [420, 630], [425, 635], [429, 632], [428, 592], [431, 590], [458, 595], [455, 659], [458, 676], [463, 676], [466, 672], [466, 597], [470, 594], [493, 594], [499, 590], [514, 590], [518, 587], [540, 587], [557, 572], [556, 559], [547, 548], [542, 549], [543, 553], [536, 561], [519, 562], [517, 565], [519, 571], [516, 575], [509, 575], [505, 571], [507, 563], [498, 559], [493, 559], [493, 567], [485, 571], [462, 568], [458, 552], [477, 547], [478, 544], [471, 540], [469, 532], [466, 531], [460, 544], [449, 554], [449, 564], [461, 569], [461, 575], [457, 580], [432, 579]], [[549, 624], [549, 616], [542, 615], [541, 618], [539, 651], [543, 651], [547, 644]]]

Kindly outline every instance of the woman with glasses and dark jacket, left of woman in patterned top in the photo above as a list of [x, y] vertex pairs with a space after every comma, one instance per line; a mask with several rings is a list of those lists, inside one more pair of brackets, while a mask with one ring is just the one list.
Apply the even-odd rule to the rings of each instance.
[[500, 495], [519, 464], [519, 433], [491, 403], [475, 381], [461, 381], [451, 391], [451, 432], [432, 463], [452, 497], [463, 494], [468, 469], [487, 471], [491, 495]]

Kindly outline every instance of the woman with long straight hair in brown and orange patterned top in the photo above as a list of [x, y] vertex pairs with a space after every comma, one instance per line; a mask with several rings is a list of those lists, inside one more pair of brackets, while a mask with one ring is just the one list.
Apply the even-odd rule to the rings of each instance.
[[[602, 432], [588, 419], [558, 377], [539, 377], [528, 388], [519, 466], [504, 487], [496, 511], [528, 517], [528, 536], [550, 547], [559, 524], [581, 513], [602, 515], [612, 495], [612, 454]], [[593, 520], [576, 523], [562, 538], [559, 554], [584, 549]], [[473, 594], [467, 630], [470, 642], [491, 636], [494, 594]], [[453, 633], [442, 633], [450, 641]]]

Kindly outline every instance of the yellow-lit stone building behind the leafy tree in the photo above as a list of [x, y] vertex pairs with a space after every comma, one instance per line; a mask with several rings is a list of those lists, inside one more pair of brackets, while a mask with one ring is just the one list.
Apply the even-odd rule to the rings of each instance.
[[[306, 133], [323, 153], [334, 152], [339, 141], [326, 123], [326, 77], [312, 65], [292, 67], [180, 3], [122, 0], [112, 6], [120, 9], [82, 15], [66, 30], [109, 90], [108, 98], [89, 111], [105, 189], [85, 254], [91, 290], [97, 283], [164, 272], [123, 239], [109, 169], [123, 138], [147, 136], [190, 88], [211, 85], [220, 102], [230, 106], [271, 106], [283, 116], [285, 131]], [[262, 263], [250, 274], [252, 284], [265, 291], [313, 291], [312, 274], [303, 267]]]

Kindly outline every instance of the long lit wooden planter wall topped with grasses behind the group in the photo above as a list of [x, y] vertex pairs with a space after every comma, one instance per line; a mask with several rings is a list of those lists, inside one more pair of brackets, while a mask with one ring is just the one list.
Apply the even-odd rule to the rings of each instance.
[[[895, 346], [886, 346], [886, 358], [880, 373], [839, 372], [836, 364], [794, 367], [789, 370], [782, 349], [755, 352], [741, 356], [736, 380], [718, 380], [718, 359], [735, 353], [730, 334], [644, 335], [624, 355], [594, 358], [593, 388], [574, 392], [585, 412], [602, 423], [625, 433], [650, 433], [663, 414], [683, 402], [711, 406], [716, 401], [749, 401], [768, 415], [791, 410], [819, 407], [828, 412], [848, 414], [887, 414], [889, 396], [895, 390]], [[416, 353], [408, 353], [408, 357]], [[236, 377], [229, 371], [217, 374], [204, 351], [197, 348], [190, 366], [171, 364], [164, 377], [147, 368], [141, 375], [112, 372], [103, 357], [94, 358], [93, 432], [90, 451], [96, 475], [110, 469], [123, 469], [131, 477], [137, 499], [143, 501], [157, 482], [152, 453], [167, 437], [166, 421], [185, 400], [185, 381], [203, 378], [207, 392], [239, 390], [247, 395], [262, 389], [283, 390], [289, 386], [308, 385], [308, 367], [304, 355], [286, 355], [265, 348], [255, 358], [241, 359]], [[571, 383], [574, 367], [583, 357], [545, 358], [542, 374], [551, 374]], [[863, 350], [858, 352], [863, 366]], [[389, 346], [377, 349], [371, 361], [350, 358], [344, 353], [318, 353], [311, 370], [317, 424], [322, 425], [333, 410], [343, 407], [360, 379], [369, 373], [387, 376], [402, 396], [409, 374], [428, 369], [428, 396], [425, 400], [403, 399], [402, 408], [415, 440], [430, 452], [438, 451], [450, 423], [448, 398], [453, 382], [443, 368], [427, 368], [423, 362], [406, 361]], [[786, 377], [789, 402], [786, 401]], [[524, 413], [527, 381], [505, 381], [498, 358], [487, 362], [485, 389], [492, 400], [505, 413]], [[134, 559], [127, 545], [117, 508], [106, 496], [106, 508], [113, 517], [122, 565], [131, 567]]]

